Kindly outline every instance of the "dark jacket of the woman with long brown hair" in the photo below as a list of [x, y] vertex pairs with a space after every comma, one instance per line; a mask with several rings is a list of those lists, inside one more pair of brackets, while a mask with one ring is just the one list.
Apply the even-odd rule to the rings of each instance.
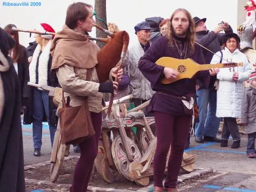
[[22, 49], [22, 56], [17, 62], [18, 66], [18, 79], [20, 87], [20, 97], [22, 98], [22, 106], [28, 105], [30, 97], [30, 87], [28, 86], [29, 82], [29, 61], [26, 53], [26, 48], [20, 45]]

